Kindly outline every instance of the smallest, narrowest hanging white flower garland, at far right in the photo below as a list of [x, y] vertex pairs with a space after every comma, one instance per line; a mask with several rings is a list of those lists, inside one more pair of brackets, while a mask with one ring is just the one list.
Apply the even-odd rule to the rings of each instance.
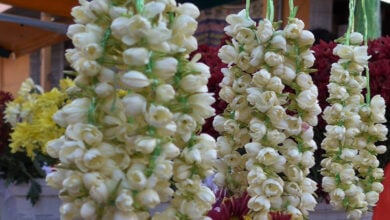
[[383, 170], [378, 168], [378, 154], [386, 146], [387, 128], [385, 101], [376, 95], [369, 104], [361, 94], [366, 87], [362, 75], [368, 65], [367, 46], [361, 46], [363, 36], [351, 33], [350, 45], [338, 44], [333, 53], [340, 57], [332, 64], [328, 85], [328, 106], [324, 110], [327, 122], [321, 146], [326, 151], [321, 170], [322, 187], [328, 192], [335, 208], [344, 208], [348, 218], [359, 219], [375, 206], [383, 190]]

